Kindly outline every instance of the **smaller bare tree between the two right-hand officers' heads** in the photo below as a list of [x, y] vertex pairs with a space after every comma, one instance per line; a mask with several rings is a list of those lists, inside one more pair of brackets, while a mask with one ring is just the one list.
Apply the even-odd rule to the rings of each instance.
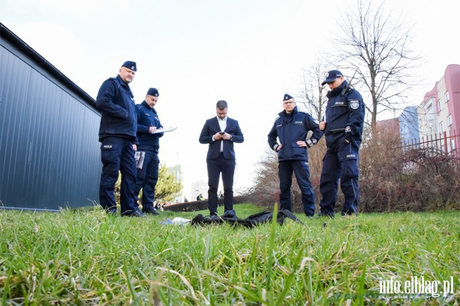
[[315, 57], [310, 66], [302, 67], [302, 75], [300, 75], [299, 80], [300, 90], [296, 97], [297, 102], [302, 104], [302, 109], [318, 121], [321, 121], [327, 103], [327, 87], [321, 86], [327, 71], [326, 61], [323, 58]]

